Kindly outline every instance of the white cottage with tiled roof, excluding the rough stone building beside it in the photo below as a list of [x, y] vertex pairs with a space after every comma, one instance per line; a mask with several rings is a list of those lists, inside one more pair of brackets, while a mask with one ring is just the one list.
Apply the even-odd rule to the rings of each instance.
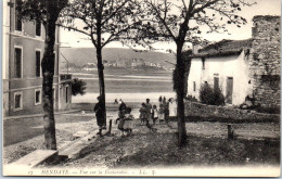
[[220, 88], [226, 102], [240, 105], [248, 92], [248, 52], [252, 39], [222, 40], [192, 54], [188, 94], [200, 100], [204, 84]]

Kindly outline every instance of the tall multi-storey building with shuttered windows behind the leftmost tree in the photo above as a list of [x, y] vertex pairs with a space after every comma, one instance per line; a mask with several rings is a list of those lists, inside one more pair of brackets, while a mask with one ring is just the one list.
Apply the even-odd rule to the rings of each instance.
[[[18, 18], [18, 2], [20, 0], [3, 1], [3, 116], [42, 113], [41, 59], [46, 31], [40, 23]], [[54, 110], [59, 111], [68, 106], [60, 103], [60, 99], [66, 99], [64, 95], [70, 94], [69, 77], [61, 80], [59, 73], [59, 31], [54, 54], [53, 99]], [[70, 103], [69, 97], [66, 102]]]

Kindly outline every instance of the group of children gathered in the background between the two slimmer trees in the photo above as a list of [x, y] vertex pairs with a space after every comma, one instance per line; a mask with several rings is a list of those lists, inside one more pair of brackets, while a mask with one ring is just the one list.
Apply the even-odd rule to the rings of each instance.
[[[159, 120], [159, 124], [162, 122], [168, 123], [169, 107], [168, 102], [166, 102], [165, 98], [159, 98], [158, 108], [156, 105], [152, 106], [152, 104], [150, 103], [150, 99], [146, 99], [146, 102], [141, 104], [139, 112], [141, 125], [145, 125], [151, 131], [156, 131], [156, 128], [153, 128], [153, 126], [156, 124], [157, 119]], [[130, 113], [131, 108], [127, 107], [126, 104], [120, 101], [116, 124], [119, 120], [118, 129], [123, 132], [123, 136], [124, 132], [127, 132], [127, 136], [132, 132], [132, 120], [134, 119], [134, 117]], [[150, 120], [153, 120], [153, 125], [150, 125]]]

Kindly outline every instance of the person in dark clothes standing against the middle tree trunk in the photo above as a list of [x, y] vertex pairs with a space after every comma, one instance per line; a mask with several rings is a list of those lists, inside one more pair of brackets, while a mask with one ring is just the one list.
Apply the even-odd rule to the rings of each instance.
[[104, 108], [104, 104], [102, 102], [102, 98], [98, 97], [98, 103], [94, 106], [94, 113], [95, 113], [95, 117], [97, 117], [97, 125], [99, 126], [99, 132], [97, 135], [100, 135], [102, 137], [102, 129], [103, 129], [103, 125], [105, 124], [105, 108]]

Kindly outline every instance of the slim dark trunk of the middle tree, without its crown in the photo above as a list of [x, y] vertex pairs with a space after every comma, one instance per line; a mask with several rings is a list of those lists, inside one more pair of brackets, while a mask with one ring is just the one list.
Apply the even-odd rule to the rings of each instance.
[[100, 97], [102, 98], [104, 108], [104, 126], [106, 126], [106, 110], [105, 110], [105, 80], [104, 80], [104, 65], [102, 60], [102, 48], [97, 48], [97, 61], [98, 61], [98, 76], [99, 76], [99, 88]]

